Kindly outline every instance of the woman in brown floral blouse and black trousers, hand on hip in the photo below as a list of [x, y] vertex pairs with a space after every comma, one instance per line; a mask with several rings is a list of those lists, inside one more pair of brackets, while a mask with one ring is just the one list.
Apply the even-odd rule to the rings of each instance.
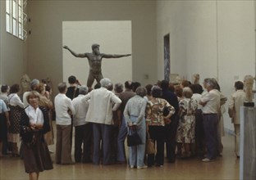
[[[148, 155], [148, 166], [156, 163], [162, 167], [164, 161], [164, 126], [171, 123], [171, 115], [175, 113], [175, 109], [165, 99], [159, 98], [162, 95], [162, 89], [158, 86], [152, 88], [152, 99], [148, 102], [146, 108], [146, 119], [149, 136], [157, 142], [157, 154]], [[169, 112], [163, 115], [164, 109]]]

